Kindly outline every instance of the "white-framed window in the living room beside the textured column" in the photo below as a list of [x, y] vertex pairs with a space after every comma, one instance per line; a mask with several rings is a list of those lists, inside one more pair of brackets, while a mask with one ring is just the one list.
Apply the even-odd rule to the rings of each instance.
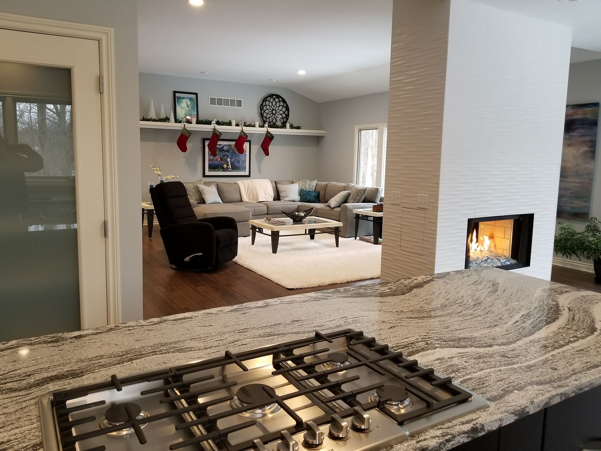
[[355, 182], [384, 187], [386, 124], [355, 126]]

